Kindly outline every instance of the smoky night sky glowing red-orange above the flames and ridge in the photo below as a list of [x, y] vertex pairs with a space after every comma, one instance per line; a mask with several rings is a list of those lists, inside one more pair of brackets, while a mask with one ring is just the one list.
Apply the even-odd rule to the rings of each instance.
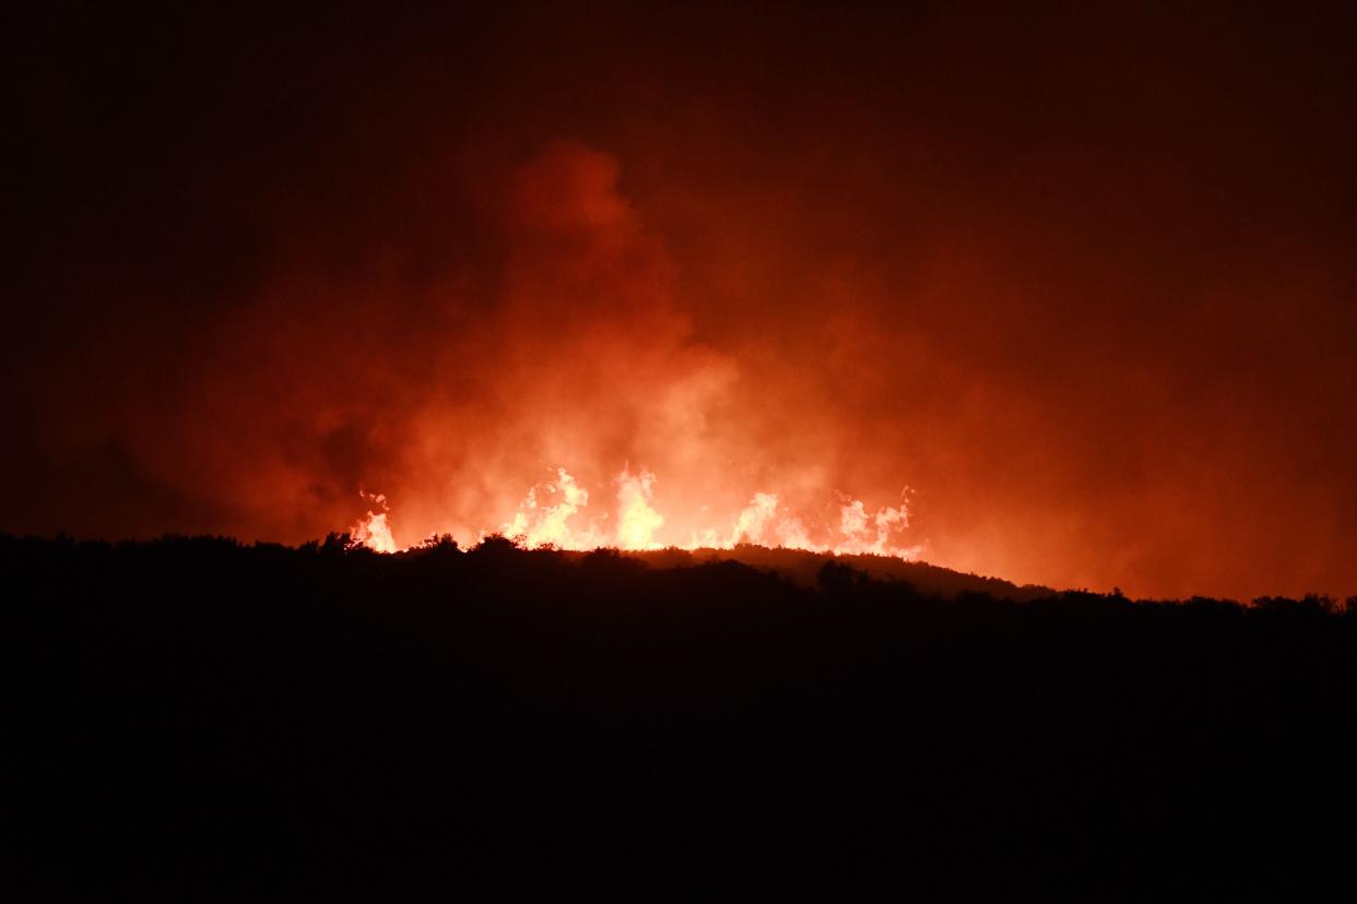
[[1352, 5], [229, 5], [7, 27], [0, 530], [1357, 592]]

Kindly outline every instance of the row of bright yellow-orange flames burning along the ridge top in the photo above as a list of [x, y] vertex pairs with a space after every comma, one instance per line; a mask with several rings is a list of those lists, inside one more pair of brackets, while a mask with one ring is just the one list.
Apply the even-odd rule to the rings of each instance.
[[[589, 491], [565, 468], [558, 468], [554, 480], [528, 489], [512, 518], [491, 530], [480, 530], [479, 538], [502, 534], [528, 549], [589, 550], [611, 546], [622, 550], [693, 550], [733, 549], [737, 543], [754, 543], [833, 554], [900, 558], [915, 558], [919, 554], [919, 546], [898, 542], [900, 534], [909, 526], [909, 510], [904, 499], [898, 506], [870, 511], [863, 500], [844, 497], [837, 506], [837, 519], [817, 525], [780, 504], [778, 493], [756, 492], [725, 529], [712, 526], [689, 530], [687, 537], [678, 538], [664, 534], [666, 519], [654, 506], [655, 482], [655, 474], [650, 470], [642, 468], [632, 473], [630, 466], [623, 468], [613, 480], [615, 511], [592, 515], [586, 511]], [[354, 545], [379, 553], [398, 552], [387, 522], [385, 497], [366, 493], [365, 497], [375, 500], [383, 511], [369, 510], [350, 529]]]

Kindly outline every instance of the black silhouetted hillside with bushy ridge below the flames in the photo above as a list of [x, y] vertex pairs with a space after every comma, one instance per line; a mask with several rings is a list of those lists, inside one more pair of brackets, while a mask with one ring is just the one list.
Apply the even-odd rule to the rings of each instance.
[[1352, 885], [1357, 617], [1320, 600], [497, 542], [0, 539], [0, 568], [9, 900]]

